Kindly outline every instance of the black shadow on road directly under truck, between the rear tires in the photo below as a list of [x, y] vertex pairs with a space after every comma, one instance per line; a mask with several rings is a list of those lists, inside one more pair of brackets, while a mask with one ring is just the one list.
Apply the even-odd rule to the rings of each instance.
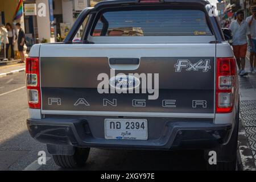
[[141, 151], [92, 148], [86, 167], [80, 170], [205, 170], [205, 160], [203, 151], [196, 150]]

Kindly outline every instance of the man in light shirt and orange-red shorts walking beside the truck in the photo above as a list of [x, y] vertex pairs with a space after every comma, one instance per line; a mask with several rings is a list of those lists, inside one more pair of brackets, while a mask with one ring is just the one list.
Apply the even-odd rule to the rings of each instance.
[[245, 56], [247, 51], [247, 38], [251, 42], [250, 29], [248, 23], [244, 20], [243, 10], [238, 10], [236, 20], [230, 23], [229, 29], [233, 32], [233, 51], [239, 68], [239, 75], [245, 76], [248, 73], [245, 71]]

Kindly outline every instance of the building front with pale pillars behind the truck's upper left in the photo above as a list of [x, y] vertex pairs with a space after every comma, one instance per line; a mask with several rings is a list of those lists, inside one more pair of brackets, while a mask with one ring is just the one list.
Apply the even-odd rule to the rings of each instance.
[[32, 44], [61, 41], [77, 16], [89, 5], [88, 0], [24, 1], [26, 34], [32, 38]]

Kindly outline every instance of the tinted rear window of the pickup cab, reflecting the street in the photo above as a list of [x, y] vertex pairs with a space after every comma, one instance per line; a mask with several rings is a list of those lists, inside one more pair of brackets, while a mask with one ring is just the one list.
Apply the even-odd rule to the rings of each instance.
[[108, 11], [98, 15], [92, 36], [210, 36], [201, 10]]

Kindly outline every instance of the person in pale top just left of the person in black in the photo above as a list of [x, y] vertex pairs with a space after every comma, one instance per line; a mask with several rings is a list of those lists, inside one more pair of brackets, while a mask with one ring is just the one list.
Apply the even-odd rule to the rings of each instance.
[[8, 40], [9, 40], [9, 44], [6, 44], [6, 57], [8, 57], [9, 47], [11, 47], [11, 59], [10, 60], [14, 60], [14, 44], [16, 41], [16, 32], [10, 23], [6, 23], [6, 29], [8, 31], [7, 36], [8, 36]]

